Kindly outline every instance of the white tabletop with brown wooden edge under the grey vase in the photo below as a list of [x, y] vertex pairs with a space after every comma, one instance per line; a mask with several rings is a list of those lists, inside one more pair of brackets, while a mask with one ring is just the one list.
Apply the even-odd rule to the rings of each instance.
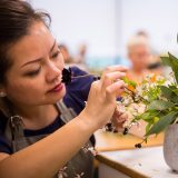
[[130, 177], [178, 178], [166, 165], [162, 146], [141, 149], [103, 151], [98, 160]]

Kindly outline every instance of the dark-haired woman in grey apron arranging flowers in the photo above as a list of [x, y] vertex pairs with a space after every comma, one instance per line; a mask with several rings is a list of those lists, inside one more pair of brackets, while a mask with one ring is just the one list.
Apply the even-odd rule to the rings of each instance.
[[121, 123], [126, 118], [116, 110], [126, 69], [110, 67], [98, 81], [76, 79], [66, 87], [48, 19], [28, 2], [0, 1], [1, 178], [91, 177], [85, 166], [91, 154], [80, 148], [112, 116]]

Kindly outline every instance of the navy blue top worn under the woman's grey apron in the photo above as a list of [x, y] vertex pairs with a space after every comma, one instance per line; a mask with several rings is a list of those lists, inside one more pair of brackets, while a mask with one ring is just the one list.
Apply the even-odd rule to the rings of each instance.
[[[85, 71], [80, 70], [77, 67], [72, 67], [71, 71], [72, 76], [86, 75]], [[66, 86], [67, 93], [63, 98], [63, 102], [66, 103], [67, 107], [72, 108], [77, 115], [80, 113], [80, 111], [85, 108], [85, 101], [87, 101], [90, 86], [93, 80], [95, 79], [92, 76], [88, 76], [86, 78], [72, 79], [71, 83]], [[3, 116], [2, 112], [0, 112], [0, 152], [12, 154], [12, 149], [8, 145], [8, 140], [4, 137], [4, 128], [7, 120], [8, 118], [6, 118], [6, 116]], [[30, 137], [30, 136], [51, 134], [63, 125], [65, 123], [60, 119], [60, 116], [58, 116], [52, 123], [42, 129], [39, 130], [26, 129], [24, 136]], [[91, 137], [90, 139], [91, 142], [93, 144], [95, 142], [93, 137]]]

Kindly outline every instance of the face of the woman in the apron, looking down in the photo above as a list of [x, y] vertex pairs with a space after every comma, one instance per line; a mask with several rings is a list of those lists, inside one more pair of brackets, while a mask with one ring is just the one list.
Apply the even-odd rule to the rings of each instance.
[[13, 65], [7, 72], [3, 89], [13, 105], [55, 103], [65, 96], [63, 57], [42, 22], [33, 23], [28, 36], [12, 46], [8, 55]]

